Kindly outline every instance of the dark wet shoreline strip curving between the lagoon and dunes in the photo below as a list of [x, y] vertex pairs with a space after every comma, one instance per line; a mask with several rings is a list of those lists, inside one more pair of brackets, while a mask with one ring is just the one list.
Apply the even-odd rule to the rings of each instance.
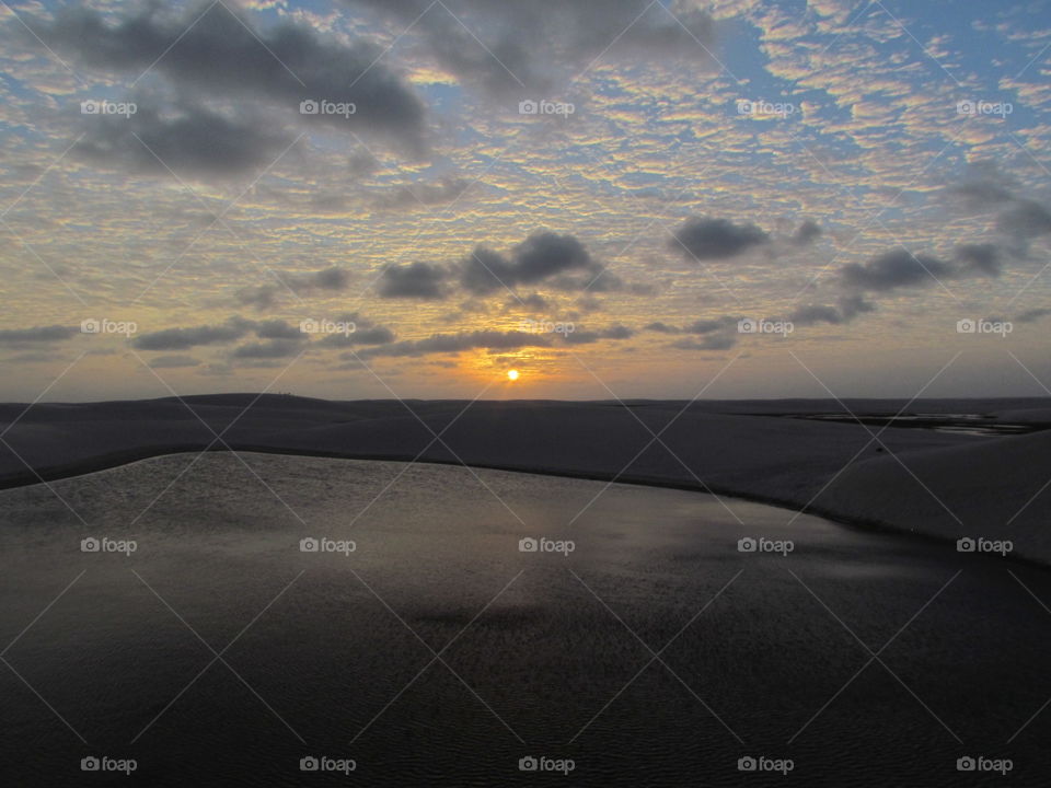
[[[461, 463], [457, 460], [441, 460], [441, 459], [416, 459], [414, 455], [409, 454], [376, 454], [376, 453], [357, 453], [351, 454], [347, 452], [333, 452], [324, 450], [310, 450], [310, 449], [289, 449], [281, 447], [265, 447], [265, 445], [241, 445], [241, 444], [231, 444], [228, 449], [227, 447], [208, 447], [201, 448], [199, 445], [165, 445], [165, 447], [143, 447], [139, 449], [125, 450], [119, 452], [111, 452], [107, 454], [101, 454], [86, 460], [81, 460], [74, 463], [68, 463], [66, 465], [56, 465], [49, 468], [44, 468], [36, 472], [24, 471], [16, 474], [7, 474], [0, 476], [0, 491], [9, 489], [19, 489], [22, 487], [32, 487], [34, 485], [47, 484], [49, 482], [58, 482], [61, 479], [76, 478], [78, 476], [86, 476], [94, 473], [101, 473], [105, 471], [112, 471], [125, 465], [131, 465], [137, 462], [143, 462], [146, 460], [152, 460], [161, 456], [171, 456], [176, 454], [203, 454], [203, 453], [249, 453], [249, 454], [278, 454], [285, 456], [309, 456], [309, 457], [322, 457], [328, 460], [356, 460], [360, 462], [399, 462], [399, 463], [412, 463], [412, 464], [427, 464], [427, 465], [450, 465], [454, 467], [471, 467], [480, 468], [486, 471], [501, 471], [506, 473], [522, 473], [530, 474], [533, 476], [553, 476], [558, 478], [571, 478], [571, 479], [582, 479], [588, 482], [607, 482], [610, 484], [623, 484], [637, 487], [652, 487], [658, 489], [675, 489], [682, 490], [685, 493], [701, 493], [703, 495], [712, 495], [724, 498], [735, 498], [737, 500], [748, 501], [751, 503], [762, 503], [764, 506], [775, 507], [777, 509], [784, 509], [785, 511], [798, 512], [801, 514], [810, 514], [813, 517], [819, 517], [823, 520], [834, 522], [838, 525], [843, 528], [862, 530], [862, 531], [876, 531], [887, 534], [896, 534], [901, 536], [909, 536], [911, 538], [919, 538], [924, 542], [931, 542], [939, 545], [950, 545], [956, 540], [951, 536], [942, 536], [934, 533], [925, 533], [923, 531], [917, 531], [915, 529], [908, 528], [905, 525], [899, 525], [888, 521], [875, 520], [871, 518], [856, 517], [851, 515], [844, 512], [834, 511], [825, 507], [820, 506], [810, 506], [806, 502], [794, 501], [789, 498], [783, 498], [779, 496], [769, 496], [757, 493], [750, 493], [747, 490], [735, 490], [721, 485], [708, 485], [707, 487], [681, 480], [666, 479], [655, 476], [644, 476], [644, 475], [628, 475], [624, 474], [617, 476], [616, 474], [608, 474], [602, 472], [589, 472], [589, 471], [567, 471], [563, 468], [544, 468], [540, 466], [520, 466], [520, 465], [510, 465], [510, 464], [494, 464], [494, 463]], [[1027, 555], [1024, 552], [1012, 551], [1007, 556], [1004, 556], [1005, 560], [1012, 560], [1025, 566], [1032, 566], [1040, 569], [1051, 569], [1051, 560], [1042, 560], [1036, 556]]]

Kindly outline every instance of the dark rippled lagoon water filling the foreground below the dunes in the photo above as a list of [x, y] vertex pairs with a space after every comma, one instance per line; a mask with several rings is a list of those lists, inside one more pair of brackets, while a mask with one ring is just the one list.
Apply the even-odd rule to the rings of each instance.
[[685, 491], [242, 457], [0, 494], [5, 785], [996, 784], [968, 754], [1047, 784], [1044, 570]]

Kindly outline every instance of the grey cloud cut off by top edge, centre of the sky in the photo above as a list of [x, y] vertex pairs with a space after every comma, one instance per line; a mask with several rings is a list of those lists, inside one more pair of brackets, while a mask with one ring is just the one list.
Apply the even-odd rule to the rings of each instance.
[[599, 57], [677, 67], [711, 60], [712, 19], [685, 1], [667, 9], [647, 0], [344, 2], [371, 9], [399, 33], [412, 25], [423, 54], [458, 79], [518, 97], [568, 81]]

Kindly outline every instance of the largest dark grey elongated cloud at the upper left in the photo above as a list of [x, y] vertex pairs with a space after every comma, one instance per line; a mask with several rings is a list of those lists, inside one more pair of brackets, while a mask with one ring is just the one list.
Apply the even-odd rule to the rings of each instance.
[[[424, 106], [379, 62], [382, 49], [369, 42], [344, 43], [289, 21], [259, 28], [251, 15], [223, 3], [174, 14], [147, 3], [114, 23], [67, 7], [54, 22], [34, 20], [33, 27], [48, 46], [89, 68], [135, 78], [150, 69], [181, 94], [276, 104], [287, 107], [290, 119], [374, 131], [420, 148]], [[301, 115], [304, 100], [355, 104], [356, 112]]]

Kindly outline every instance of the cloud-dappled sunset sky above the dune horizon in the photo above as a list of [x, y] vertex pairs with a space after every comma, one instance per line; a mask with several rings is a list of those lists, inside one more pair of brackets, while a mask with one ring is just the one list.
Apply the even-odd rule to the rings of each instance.
[[0, 37], [0, 399], [1051, 395], [1049, 1], [34, 0]]

